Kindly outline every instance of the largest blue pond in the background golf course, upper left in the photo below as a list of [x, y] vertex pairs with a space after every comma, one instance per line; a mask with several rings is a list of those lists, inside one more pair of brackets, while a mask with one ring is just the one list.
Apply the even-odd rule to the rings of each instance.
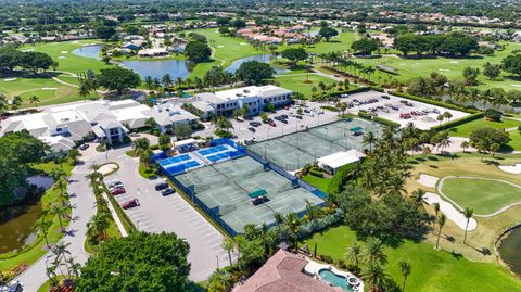
[[141, 75], [142, 79], [150, 76], [161, 80], [167, 73], [173, 80], [178, 77], [185, 79], [190, 75], [191, 69], [189, 62], [185, 60], [123, 61], [122, 65]]

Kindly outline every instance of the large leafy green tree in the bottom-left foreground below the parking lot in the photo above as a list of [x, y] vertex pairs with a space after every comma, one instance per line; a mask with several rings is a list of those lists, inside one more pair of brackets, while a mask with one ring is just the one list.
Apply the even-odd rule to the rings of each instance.
[[187, 291], [188, 243], [175, 233], [134, 232], [113, 239], [89, 257], [78, 291]]

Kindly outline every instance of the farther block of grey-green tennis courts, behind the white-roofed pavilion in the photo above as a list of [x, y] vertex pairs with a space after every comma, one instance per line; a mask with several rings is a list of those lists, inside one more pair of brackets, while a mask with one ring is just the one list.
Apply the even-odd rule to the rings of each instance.
[[381, 128], [377, 123], [364, 119], [343, 119], [255, 143], [249, 149], [287, 170], [296, 170], [339, 151], [355, 149], [363, 152], [363, 134], [372, 131], [378, 137]]

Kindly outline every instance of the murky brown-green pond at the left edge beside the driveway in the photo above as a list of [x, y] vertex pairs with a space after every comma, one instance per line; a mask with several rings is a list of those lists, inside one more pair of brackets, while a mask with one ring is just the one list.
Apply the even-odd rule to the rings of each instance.
[[20, 250], [33, 243], [34, 230], [41, 215], [41, 203], [10, 206], [0, 211], [0, 254]]

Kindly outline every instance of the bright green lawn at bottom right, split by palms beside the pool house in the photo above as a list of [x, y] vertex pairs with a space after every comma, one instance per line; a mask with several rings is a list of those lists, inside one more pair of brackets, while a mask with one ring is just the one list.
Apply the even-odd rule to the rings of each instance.
[[[305, 241], [313, 249], [317, 243], [318, 254], [343, 259], [345, 250], [356, 241], [355, 233], [346, 226], [330, 228]], [[443, 249], [443, 244], [442, 244]], [[397, 249], [386, 247], [386, 271], [402, 283], [399, 261], [410, 261], [411, 274], [406, 291], [520, 291], [521, 281], [497, 264], [471, 262], [447, 251], [436, 251], [427, 242], [405, 241]]]

